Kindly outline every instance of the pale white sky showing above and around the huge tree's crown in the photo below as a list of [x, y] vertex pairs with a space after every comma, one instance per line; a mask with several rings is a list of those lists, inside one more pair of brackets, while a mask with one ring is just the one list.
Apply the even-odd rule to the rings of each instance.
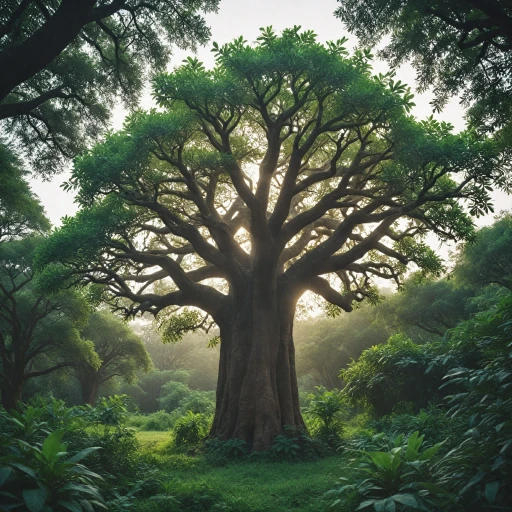
[[[336, 0], [222, 0], [218, 14], [209, 14], [206, 16], [207, 23], [212, 30], [211, 42], [216, 41], [224, 44], [241, 35], [252, 42], [259, 35], [259, 28], [272, 25], [276, 30], [281, 31], [294, 25], [301, 25], [303, 29], [312, 29], [318, 34], [318, 39], [322, 42], [328, 40], [340, 39], [343, 36], [349, 37], [348, 48], [352, 50], [356, 46], [356, 39], [351, 36], [343, 27], [342, 23], [334, 17], [333, 12], [337, 7]], [[197, 55], [207, 67], [213, 65], [213, 54], [210, 51], [211, 43], [206, 47], [200, 48]], [[169, 69], [179, 65], [181, 61], [190, 55], [189, 51], [176, 50], [169, 64]], [[385, 72], [388, 66], [384, 62], [376, 61], [374, 64], [375, 72]], [[410, 66], [403, 66], [398, 70], [397, 78], [413, 87], [414, 90], [414, 71]], [[432, 93], [417, 95], [414, 99], [416, 107], [414, 115], [418, 118], [425, 118], [431, 115], [429, 101], [432, 99]], [[143, 107], [151, 106], [149, 94], [142, 99]], [[122, 125], [125, 112], [121, 107], [116, 107], [113, 127], [119, 128]], [[436, 118], [449, 121], [456, 130], [464, 128], [464, 111], [459, 106], [458, 101], [453, 99], [446, 109]], [[64, 215], [73, 215], [76, 211], [76, 205], [73, 202], [73, 195], [64, 192], [60, 185], [69, 177], [68, 173], [56, 176], [50, 182], [43, 182], [34, 179], [32, 187], [34, 192], [40, 197], [51, 222], [58, 226], [60, 219]], [[495, 200], [495, 211], [510, 208], [512, 206], [510, 197], [503, 193], [493, 194]], [[479, 225], [491, 223], [492, 216], [481, 218], [477, 221]], [[433, 240], [432, 243], [435, 243]], [[441, 248], [443, 252], [446, 248]]]

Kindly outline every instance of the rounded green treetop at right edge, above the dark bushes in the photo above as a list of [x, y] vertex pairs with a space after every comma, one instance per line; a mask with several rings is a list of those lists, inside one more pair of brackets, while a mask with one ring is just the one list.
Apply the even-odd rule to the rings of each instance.
[[506, 213], [477, 232], [477, 241], [459, 252], [455, 276], [474, 286], [512, 289], [512, 215]]

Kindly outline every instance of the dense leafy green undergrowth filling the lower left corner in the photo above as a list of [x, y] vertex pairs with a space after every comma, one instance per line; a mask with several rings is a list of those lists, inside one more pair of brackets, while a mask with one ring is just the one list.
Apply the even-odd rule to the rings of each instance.
[[68, 408], [39, 399], [0, 409], [2, 510], [91, 512], [109, 509], [110, 498], [123, 501], [120, 493], [142, 472], [138, 443], [124, 427], [125, 402]]

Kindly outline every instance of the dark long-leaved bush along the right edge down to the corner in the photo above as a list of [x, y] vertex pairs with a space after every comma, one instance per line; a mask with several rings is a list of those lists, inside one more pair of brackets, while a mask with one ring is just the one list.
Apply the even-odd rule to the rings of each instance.
[[512, 294], [461, 326], [478, 337], [480, 369], [454, 368], [446, 376], [450, 419], [468, 417], [467, 430], [439, 466], [442, 485], [469, 510], [504, 509], [512, 502]]

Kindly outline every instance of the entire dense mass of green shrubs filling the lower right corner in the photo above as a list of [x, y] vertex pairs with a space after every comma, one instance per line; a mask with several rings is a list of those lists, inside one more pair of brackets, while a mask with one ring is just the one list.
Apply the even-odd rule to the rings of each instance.
[[[437, 384], [441, 385], [444, 380], [442, 392], [446, 394], [449, 390], [450, 394], [445, 396], [441, 408], [431, 406], [418, 415], [395, 414], [379, 418], [371, 425], [382, 430], [381, 433], [356, 436], [348, 446], [359, 454], [355, 467], [359, 468], [361, 479], [350, 479], [333, 491], [342, 496], [337, 504], [356, 500], [361, 510], [378, 511], [391, 507], [396, 510], [459, 511], [494, 510], [510, 502], [507, 482], [512, 446], [511, 319], [512, 296], [508, 293], [490, 310], [478, 313], [453, 329], [443, 351], [439, 352], [436, 344], [433, 344], [435, 350], [429, 344], [415, 346], [413, 355], [423, 351], [423, 355], [430, 353], [430, 357], [427, 364], [410, 377], [408, 385], [412, 386], [415, 380], [424, 382], [422, 374], [426, 373], [428, 378], [433, 368], [436, 371], [444, 369], [446, 375]], [[409, 376], [407, 367], [416, 365], [419, 358], [410, 355], [410, 340], [397, 339], [399, 349], [396, 352], [393, 347], [375, 347], [370, 354], [363, 353], [360, 361], [346, 371], [348, 396], [365, 399], [378, 411], [373, 402], [378, 395], [372, 393], [375, 377], [380, 381], [389, 379], [391, 370], [385, 371], [389, 366], [394, 368], [396, 382]], [[391, 345], [396, 344], [397, 339], [391, 340]], [[374, 357], [374, 353], [378, 356]], [[464, 356], [466, 362], [473, 362], [474, 366], [457, 365]], [[369, 363], [376, 365], [373, 371], [363, 371]], [[399, 386], [399, 392], [404, 393], [407, 387]], [[389, 386], [391, 391], [392, 386]], [[411, 403], [417, 407], [422, 403], [422, 397], [421, 390], [416, 389], [410, 395]], [[399, 405], [400, 402], [394, 397], [393, 403]], [[387, 412], [389, 409], [388, 406]], [[414, 463], [405, 470], [401, 440], [390, 448], [390, 439], [398, 432], [401, 432], [398, 437], [401, 439], [404, 432], [418, 427], [429, 434], [429, 442], [437, 444], [426, 450], [429, 457], [421, 460], [421, 464]], [[414, 433], [409, 439], [413, 438], [423, 440]], [[439, 450], [441, 444], [445, 444], [443, 450]], [[434, 451], [439, 451], [436, 457]], [[428, 474], [421, 474], [420, 469], [427, 459]]]

